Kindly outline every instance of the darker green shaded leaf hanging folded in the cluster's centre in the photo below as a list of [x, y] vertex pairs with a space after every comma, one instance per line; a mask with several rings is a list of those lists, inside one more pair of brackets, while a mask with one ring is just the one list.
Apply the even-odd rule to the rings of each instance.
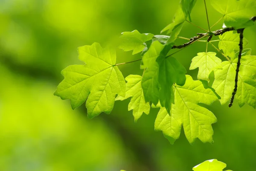
[[186, 69], [183, 65], [173, 57], [166, 58], [171, 46], [172, 44], [167, 46], [162, 45], [159, 41], [154, 41], [143, 55], [143, 64], [141, 65], [141, 68], [147, 68], [142, 80], [146, 101], [157, 104], [159, 99], [161, 105], [168, 111], [171, 103], [174, 103], [172, 84], [183, 85], [186, 81]]

